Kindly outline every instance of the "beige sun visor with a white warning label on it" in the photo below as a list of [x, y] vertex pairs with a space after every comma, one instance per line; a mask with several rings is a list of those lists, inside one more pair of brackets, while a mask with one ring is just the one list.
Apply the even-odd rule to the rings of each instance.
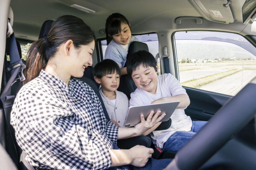
[[189, 2], [202, 15], [202, 17], [209, 21], [225, 24], [234, 22], [233, 15], [229, 7], [231, 1], [229, 0], [189, 0]]

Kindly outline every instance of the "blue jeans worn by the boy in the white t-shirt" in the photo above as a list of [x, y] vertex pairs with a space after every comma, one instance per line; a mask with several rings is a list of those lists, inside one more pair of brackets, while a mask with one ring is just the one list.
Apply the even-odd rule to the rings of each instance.
[[191, 130], [172, 134], [164, 143], [163, 150], [178, 152], [206, 123], [207, 121], [192, 121]]

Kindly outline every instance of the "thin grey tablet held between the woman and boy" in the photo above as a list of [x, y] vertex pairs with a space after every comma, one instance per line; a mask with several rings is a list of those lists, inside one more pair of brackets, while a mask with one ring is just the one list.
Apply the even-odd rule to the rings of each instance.
[[164, 103], [145, 104], [141, 106], [131, 106], [129, 107], [128, 113], [126, 114], [124, 127], [135, 126], [138, 123], [141, 123], [141, 114], [144, 115], [146, 120], [151, 111], [157, 112], [158, 110], [161, 110], [159, 116], [163, 113], [166, 114], [160, 121], [165, 122], [172, 116], [179, 103], [179, 101], [170, 101]]

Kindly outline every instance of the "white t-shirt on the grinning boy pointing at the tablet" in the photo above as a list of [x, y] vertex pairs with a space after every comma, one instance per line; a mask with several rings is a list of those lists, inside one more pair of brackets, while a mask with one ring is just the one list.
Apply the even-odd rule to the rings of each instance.
[[[186, 90], [180, 85], [179, 81], [172, 74], [162, 74], [157, 77], [156, 94], [151, 94], [146, 90], [137, 88], [131, 93], [130, 105], [138, 106], [150, 104], [152, 101], [162, 97], [171, 97], [179, 94], [187, 94]], [[177, 131], [189, 131], [192, 126], [192, 121], [185, 114], [183, 109], [176, 109], [171, 116], [172, 125], [169, 129], [153, 131], [151, 137], [153, 143], [159, 148], [163, 148], [164, 142]]]

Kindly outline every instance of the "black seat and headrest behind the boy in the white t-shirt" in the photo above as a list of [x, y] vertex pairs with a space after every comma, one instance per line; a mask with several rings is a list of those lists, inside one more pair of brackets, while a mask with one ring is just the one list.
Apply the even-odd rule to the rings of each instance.
[[[142, 43], [142, 42], [138, 42], [138, 41], [134, 41], [130, 44], [129, 49], [128, 49], [128, 54], [126, 57], [126, 61], [129, 60], [129, 57], [139, 51], [139, 50], [145, 50], [147, 52], [149, 52], [148, 50], [148, 46], [146, 43]], [[125, 67], [126, 67], [126, 63], [125, 63]], [[132, 80], [132, 77], [129, 75], [122, 75], [120, 78], [120, 84], [118, 87], [118, 91], [122, 91], [129, 99], [131, 98], [131, 93], [135, 91], [136, 89], [136, 85]]]

